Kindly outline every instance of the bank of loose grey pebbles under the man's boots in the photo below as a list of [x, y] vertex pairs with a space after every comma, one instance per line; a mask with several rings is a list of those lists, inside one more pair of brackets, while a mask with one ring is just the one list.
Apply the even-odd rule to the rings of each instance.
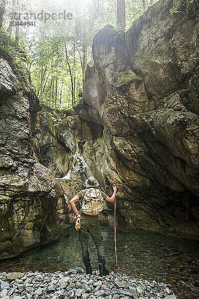
[[67, 272], [0, 273], [3, 299], [176, 299], [164, 283], [132, 278], [112, 272], [100, 277], [86, 275], [78, 267]]

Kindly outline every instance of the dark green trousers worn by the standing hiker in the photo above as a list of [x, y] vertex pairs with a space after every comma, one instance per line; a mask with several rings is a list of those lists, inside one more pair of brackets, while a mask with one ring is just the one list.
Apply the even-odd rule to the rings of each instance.
[[90, 256], [88, 252], [89, 233], [97, 248], [98, 263], [105, 264], [106, 260], [104, 254], [103, 236], [100, 230], [99, 221], [81, 219], [81, 228], [79, 230], [79, 241], [81, 243], [82, 259], [83, 259], [84, 266], [90, 264]]

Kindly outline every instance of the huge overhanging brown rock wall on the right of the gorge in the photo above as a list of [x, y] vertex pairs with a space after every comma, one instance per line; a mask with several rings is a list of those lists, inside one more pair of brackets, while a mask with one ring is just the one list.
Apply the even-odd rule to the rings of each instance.
[[95, 35], [71, 179], [115, 183], [128, 227], [199, 235], [199, 7], [172, 6]]

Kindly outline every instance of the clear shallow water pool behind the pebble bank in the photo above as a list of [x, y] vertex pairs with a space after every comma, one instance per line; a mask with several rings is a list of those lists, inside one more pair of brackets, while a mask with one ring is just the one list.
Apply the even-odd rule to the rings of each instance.
[[[165, 282], [179, 299], [199, 298], [199, 241], [151, 232], [117, 231], [118, 266], [115, 264], [114, 230], [101, 224], [107, 267], [135, 278]], [[92, 268], [97, 269], [97, 251], [89, 240]], [[66, 271], [82, 267], [78, 232], [74, 227], [39, 249], [1, 261], [0, 272]]]

